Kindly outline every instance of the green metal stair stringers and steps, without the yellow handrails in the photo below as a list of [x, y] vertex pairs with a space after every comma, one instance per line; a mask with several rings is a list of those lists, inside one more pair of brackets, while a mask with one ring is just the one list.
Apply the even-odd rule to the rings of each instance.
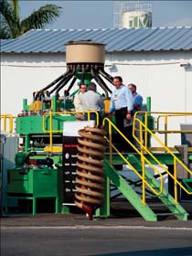
[[[188, 213], [182, 208], [181, 205], [176, 204], [174, 198], [168, 193], [164, 188], [158, 199], [162, 204], [143, 204], [142, 198], [134, 191], [134, 189], [129, 185], [127, 180], [121, 176], [115, 168], [110, 165], [109, 160], [104, 160], [105, 163], [105, 174], [108, 176], [112, 183], [122, 192], [123, 196], [132, 204], [140, 215], [148, 221], [156, 221], [159, 217], [173, 215], [176, 219], [187, 220]], [[150, 183], [152, 187], [159, 188], [160, 183], [155, 179], [155, 177], [150, 174], [147, 169], [145, 170], [146, 181]], [[153, 208], [162, 207], [167, 208], [165, 213], [155, 213]]]

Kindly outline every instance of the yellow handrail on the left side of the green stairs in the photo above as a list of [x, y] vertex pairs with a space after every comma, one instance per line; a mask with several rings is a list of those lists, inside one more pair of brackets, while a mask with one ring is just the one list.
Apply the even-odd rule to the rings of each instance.
[[[162, 194], [163, 188], [164, 188], [164, 184], [163, 184], [164, 179], [163, 179], [163, 176], [162, 176], [161, 172], [155, 167], [155, 165], [152, 165], [152, 164], [150, 163], [150, 161], [144, 156], [143, 151], [139, 151], [139, 150], [123, 135], [123, 133], [121, 133], [121, 131], [114, 125], [114, 123], [112, 123], [112, 121], [111, 121], [109, 118], [104, 118], [102, 124], [103, 124], [105, 127], [107, 127], [107, 125], [108, 125], [109, 139], [108, 139], [107, 137], [105, 137], [105, 138], [106, 138], [107, 142], [108, 142], [109, 145], [110, 145], [110, 165], [112, 165], [112, 149], [114, 149], [114, 150], [117, 152], [117, 154], [121, 156], [121, 158], [123, 159], [123, 161], [124, 161], [127, 165], [129, 165], [129, 166], [132, 168], [133, 172], [134, 172], [137, 176], [139, 176], [139, 177], [141, 178], [142, 183], [143, 183], [143, 193], [142, 193], [142, 195], [143, 195], [143, 197], [142, 197], [143, 204], [145, 204], [145, 185], [146, 185], [147, 187], [149, 187], [149, 188], [155, 193], [156, 196], [160, 196], [160, 195]], [[119, 134], [123, 137], [123, 139], [127, 142], [127, 144], [130, 144], [130, 145], [133, 147], [133, 150], [134, 150], [135, 152], [137, 152], [137, 153], [141, 156], [142, 171], [143, 171], [143, 172], [142, 172], [142, 175], [141, 175], [141, 174], [134, 168], [134, 166], [123, 156], [123, 154], [122, 154], [121, 152], [119, 152], [118, 149], [112, 144], [112, 128], [113, 128], [117, 133], [119, 133]], [[145, 179], [145, 166], [144, 166], [144, 163], [150, 165], [150, 167], [152, 167], [152, 168], [154, 169], [155, 173], [157, 173], [157, 174], [160, 176], [161, 182], [160, 182], [160, 189], [159, 189], [159, 191], [156, 191], [156, 190], [154, 189], [154, 187], [152, 187], [152, 186], [147, 182], [147, 180]]]

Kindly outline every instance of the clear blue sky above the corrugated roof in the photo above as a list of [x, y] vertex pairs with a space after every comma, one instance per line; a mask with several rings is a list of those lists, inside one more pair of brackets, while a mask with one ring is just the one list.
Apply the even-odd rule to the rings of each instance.
[[[192, 27], [192, 1], [147, 1], [147, 3], [152, 3], [153, 27]], [[28, 16], [39, 6], [47, 4], [59, 5], [62, 9], [58, 20], [46, 28], [109, 28], [113, 26], [113, 1], [20, 0], [21, 16]]]

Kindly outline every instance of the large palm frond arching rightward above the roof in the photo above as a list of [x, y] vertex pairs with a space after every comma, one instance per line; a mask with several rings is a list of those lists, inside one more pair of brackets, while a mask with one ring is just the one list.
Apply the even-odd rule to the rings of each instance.
[[60, 7], [58, 5], [44, 5], [30, 16], [21, 21], [21, 32], [25, 33], [30, 29], [43, 28], [59, 17]]

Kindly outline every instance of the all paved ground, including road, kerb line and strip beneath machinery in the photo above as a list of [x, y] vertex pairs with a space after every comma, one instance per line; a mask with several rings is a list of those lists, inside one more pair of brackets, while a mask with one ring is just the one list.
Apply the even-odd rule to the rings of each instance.
[[123, 214], [93, 220], [84, 214], [3, 217], [1, 256], [192, 256], [191, 216], [157, 222]]

